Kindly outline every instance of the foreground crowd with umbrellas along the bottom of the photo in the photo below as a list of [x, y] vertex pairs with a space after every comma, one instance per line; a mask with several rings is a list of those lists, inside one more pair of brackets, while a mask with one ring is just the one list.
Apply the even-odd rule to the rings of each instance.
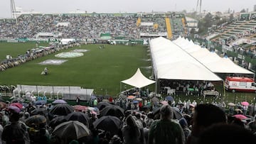
[[[236, 115], [246, 115], [240, 111], [225, 113], [223, 107], [215, 104], [193, 103], [187, 108], [182, 102], [175, 103], [174, 99], [155, 101], [154, 97], [142, 100], [138, 98], [139, 95], [132, 99], [129, 96], [127, 99], [124, 97], [99, 99], [96, 96], [90, 104], [92, 107], [76, 105], [73, 108], [63, 102], [43, 103], [42, 99], [31, 102], [24, 102], [21, 98], [14, 99], [11, 103], [2, 101], [0, 142], [6, 144], [201, 144], [230, 141], [254, 143], [256, 140], [256, 116], [240, 118]], [[81, 104], [81, 101], [77, 103]], [[56, 109], [59, 114], [56, 114]], [[102, 122], [105, 123], [104, 126], [100, 126], [102, 119], [105, 119], [105, 122]], [[68, 127], [73, 125], [75, 129]], [[63, 126], [67, 127], [62, 129]], [[58, 131], [59, 129], [63, 131]], [[78, 138], [72, 136], [75, 132], [80, 135]], [[238, 140], [234, 140], [236, 137], [239, 137]]]

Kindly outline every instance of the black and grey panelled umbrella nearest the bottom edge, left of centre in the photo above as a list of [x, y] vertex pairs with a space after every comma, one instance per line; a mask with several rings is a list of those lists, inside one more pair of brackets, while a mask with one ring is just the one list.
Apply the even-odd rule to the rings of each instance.
[[79, 121], [67, 121], [56, 126], [52, 135], [68, 142], [90, 135], [90, 130]]

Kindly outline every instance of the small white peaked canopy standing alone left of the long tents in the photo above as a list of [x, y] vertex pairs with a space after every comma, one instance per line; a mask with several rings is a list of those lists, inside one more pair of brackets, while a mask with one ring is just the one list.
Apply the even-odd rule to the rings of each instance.
[[133, 87], [142, 88], [148, 86], [149, 84], [154, 84], [155, 81], [146, 78], [138, 68], [137, 72], [132, 77], [123, 80], [122, 83], [129, 84]]

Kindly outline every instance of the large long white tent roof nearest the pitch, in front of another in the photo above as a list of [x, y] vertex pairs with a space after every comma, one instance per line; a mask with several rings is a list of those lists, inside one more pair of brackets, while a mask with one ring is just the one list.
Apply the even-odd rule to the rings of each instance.
[[171, 40], [155, 38], [150, 41], [150, 50], [157, 79], [222, 80]]

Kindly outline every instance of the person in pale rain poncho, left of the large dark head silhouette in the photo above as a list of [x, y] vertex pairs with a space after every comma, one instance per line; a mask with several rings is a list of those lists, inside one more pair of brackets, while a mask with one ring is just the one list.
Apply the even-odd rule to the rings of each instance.
[[159, 120], [155, 120], [149, 128], [149, 144], [183, 144], [185, 135], [180, 124], [172, 118], [174, 112], [169, 105], [163, 105], [160, 109]]

